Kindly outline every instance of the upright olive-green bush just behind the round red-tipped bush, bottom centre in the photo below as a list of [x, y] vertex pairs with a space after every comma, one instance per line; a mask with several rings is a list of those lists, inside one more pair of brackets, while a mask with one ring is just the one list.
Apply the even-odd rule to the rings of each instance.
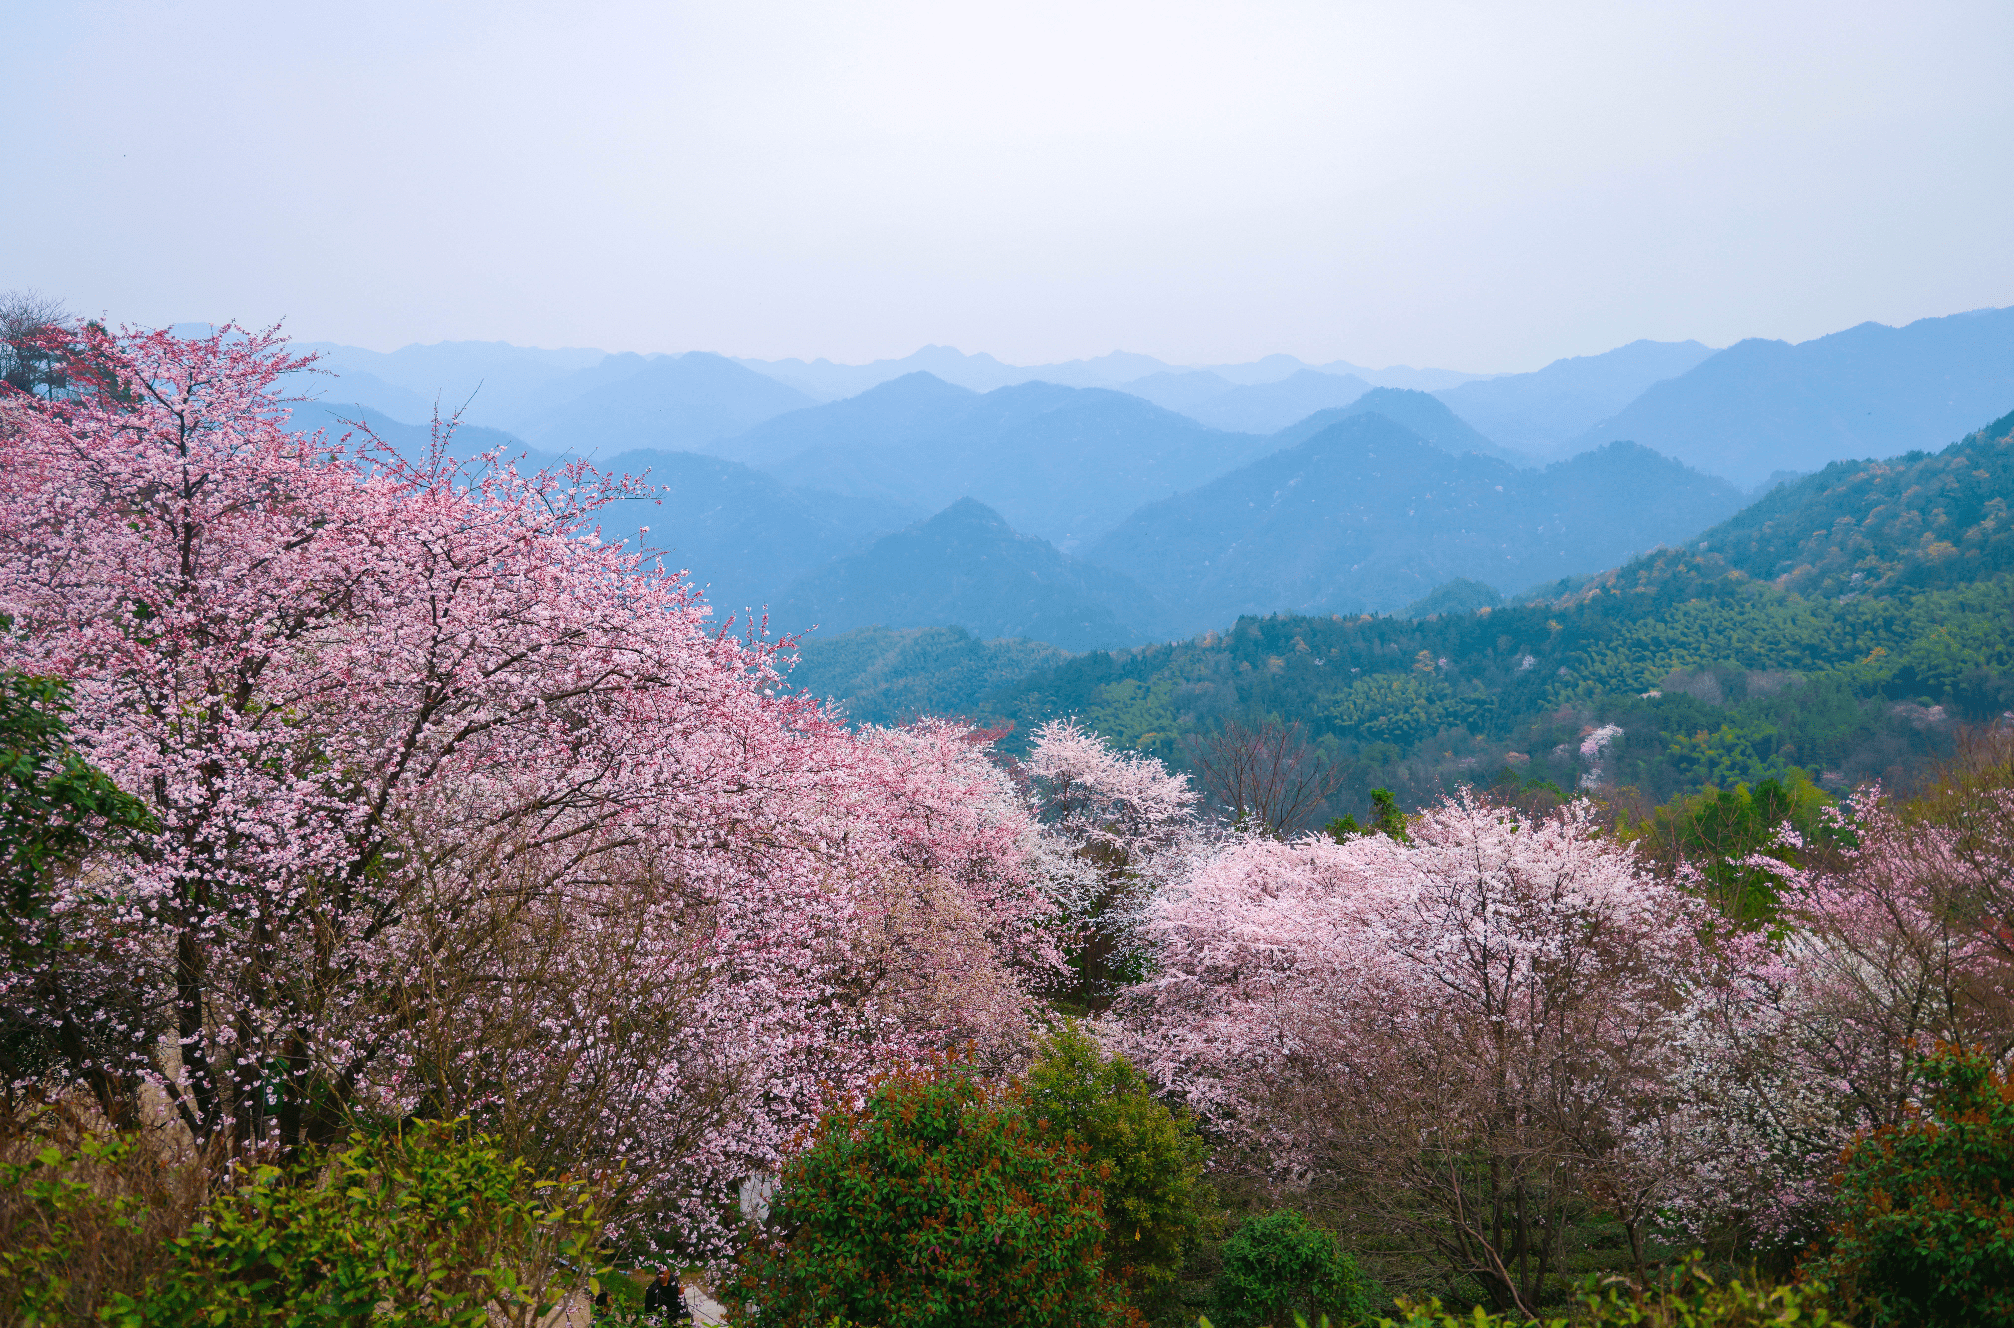
[[1106, 1203], [1106, 1264], [1136, 1292], [1174, 1282], [1210, 1193], [1196, 1122], [1154, 1100], [1124, 1056], [1065, 1024], [1041, 1042], [1025, 1086], [1037, 1122], [1084, 1145]]

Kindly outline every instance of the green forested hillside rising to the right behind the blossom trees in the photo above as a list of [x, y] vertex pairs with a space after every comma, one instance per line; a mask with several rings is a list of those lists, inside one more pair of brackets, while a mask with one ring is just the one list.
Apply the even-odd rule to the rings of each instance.
[[1188, 734], [1299, 721], [1347, 768], [1335, 810], [1368, 810], [1372, 786], [1420, 802], [1506, 780], [1645, 804], [1792, 772], [1837, 792], [1909, 786], [1954, 725], [2014, 707], [2010, 494], [2014, 417], [1937, 455], [1780, 486], [1682, 550], [1551, 599], [1420, 621], [1245, 617], [957, 709], [1017, 732], [1073, 713], [1176, 764]]

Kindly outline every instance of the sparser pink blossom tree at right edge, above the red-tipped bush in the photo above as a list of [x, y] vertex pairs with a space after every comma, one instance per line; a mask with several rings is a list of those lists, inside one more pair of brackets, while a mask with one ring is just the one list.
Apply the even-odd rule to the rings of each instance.
[[1841, 1151], [1907, 1114], [1923, 1056], [2014, 1052], [2014, 796], [1986, 784], [1944, 802], [1909, 812], [1861, 790], [1843, 860], [1754, 858], [1784, 883], [1780, 923], [1724, 941], [1724, 979], [1698, 991], [1686, 1034], [1694, 1225], [1805, 1243]]

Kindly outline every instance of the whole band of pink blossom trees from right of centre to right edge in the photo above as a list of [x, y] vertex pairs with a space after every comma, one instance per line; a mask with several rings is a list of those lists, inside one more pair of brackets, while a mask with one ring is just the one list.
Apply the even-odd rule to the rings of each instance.
[[[2014, 798], [1948, 824], [1869, 790], [1849, 820], [1859, 846], [1825, 871], [1758, 858], [1782, 883], [1764, 929], [1651, 873], [1589, 804], [1527, 818], [1464, 790], [1412, 842], [1198, 844], [1106, 1036], [1297, 1183], [1355, 1173], [1446, 1219], [1476, 1199], [1448, 1159], [1488, 1157], [1519, 1211], [1571, 1183], [1631, 1239], [1799, 1241], [1923, 1052], [2014, 1054]], [[1486, 1245], [1462, 1243], [1482, 1274]]]

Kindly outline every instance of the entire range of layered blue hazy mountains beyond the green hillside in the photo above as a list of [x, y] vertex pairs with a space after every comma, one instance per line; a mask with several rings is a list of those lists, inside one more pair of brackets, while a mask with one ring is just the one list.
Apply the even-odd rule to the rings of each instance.
[[304, 349], [326, 371], [294, 385], [304, 425], [363, 419], [417, 453], [439, 407], [461, 411], [457, 451], [646, 474], [657, 496], [608, 508], [604, 538], [661, 550], [723, 617], [1067, 651], [1513, 596], [1682, 544], [1782, 474], [1944, 447], [2014, 405], [2014, 310], [1637, 341], [1519, 375]]

